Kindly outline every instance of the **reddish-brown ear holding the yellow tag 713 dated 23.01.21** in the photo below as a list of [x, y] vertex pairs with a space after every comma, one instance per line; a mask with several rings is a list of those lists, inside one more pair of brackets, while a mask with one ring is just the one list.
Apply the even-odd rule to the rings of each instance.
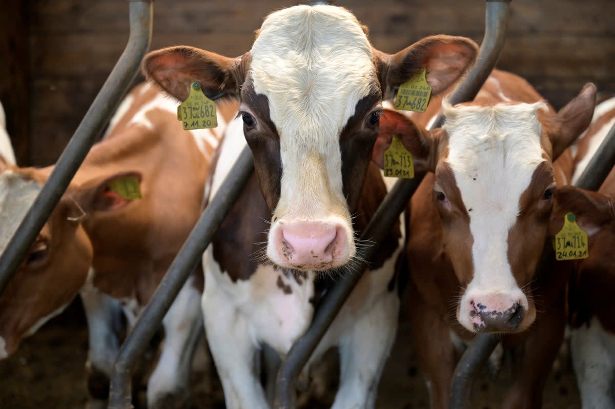
[[381, 169], [384, 151], [391, 146], [393, 135], [397, 135], [412, 154], [416, 172], [435, 171], [438, 148], [444, 135], [442, 129], [426, 130], [398, 111], [384, 109], [380, 116], [378, 138], [371, 153], [371, 160]]

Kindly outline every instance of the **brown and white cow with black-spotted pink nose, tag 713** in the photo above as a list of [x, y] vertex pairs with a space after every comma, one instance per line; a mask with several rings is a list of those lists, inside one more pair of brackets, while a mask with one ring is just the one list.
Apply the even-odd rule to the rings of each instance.
[[454, 345], [479, 332], [525, 346], [504, 407], [540, 407], [565, 326], [566, 277], [537, 271], [549, 260], [554, 161], [589, 124], [595, 92], [585, 85], [555, 114], [525, 80], [494, 70], [473, 102], [442, 104], [442, 129], [423, 127], [437, 101], [412, 119], [381, 119], [381, 136], [403, 135], [430, 172], [410, 203], [407, 297], [433, 408], [448, 407]]

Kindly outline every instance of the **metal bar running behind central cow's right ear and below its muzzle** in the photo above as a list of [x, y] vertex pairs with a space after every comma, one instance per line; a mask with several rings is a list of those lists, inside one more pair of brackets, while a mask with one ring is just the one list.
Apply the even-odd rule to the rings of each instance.
[[[451, 94], [449, 98], [451, 103], [473, 100], [493, 70], [504, 45], [504, 38], [506, 38], [509, 3], [510, 0], [486, 1], [485, 38], [483, 38], [483, 44], [478, 53], [477, 65], [472, 68], [464, 83], [460, 84]], [[438, 127], [441, 124], [442, 118], [438, 117], [433, 127]], [[370, 239], [376, 243], [360, 254], [364, 260], [369, 260], [370, 256], [378, 250], [379, 242], [397, 220], [405, 205], [408, 204], [421, 180], [423, 180], [423, 175], [416, 175], [414, 179], [400, 179], [384, 198], [383, 204], [380, 205], [370, 224], [361, 235], [362, 239]], [[327, 332], [328, 327], [352, 292], [355, 284], [359, 282], [364, 269], [365, 264], [361, 264], [353, 272], [341, 277], [338, 283], [329, 290], [314, 313], [311, 327], [288, 352], [277, 376], [276, 401], [274, 404], [276, 409], [294, 409], [296, 407], [294, 381], [308, 362], [322, 336]]]

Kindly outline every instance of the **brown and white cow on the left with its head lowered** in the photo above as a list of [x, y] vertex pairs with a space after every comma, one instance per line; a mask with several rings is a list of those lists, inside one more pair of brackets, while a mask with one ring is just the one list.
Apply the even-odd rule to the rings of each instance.
[[[210, 161], [236, 108], [221, 106], [215, 130], [186, 131], [175, 101], [150, 84], [125, 97], [0, 298], [0, 322], [7, 325], [0, 336], [11, 340], [7, 353], [25, 334], [21, 327], [32, 333], [81, 290], [90, 333], [90, 407], [105, 405], [122, 314], [132, 327], [198, 220]], [[0, 175], [0, 189], [10, 186], [6, 197], [20, 200], [25, 212], [52, 169], [8, 170]], [[132, 183], [141, 199], [117, 191], [116, 181]], [[10, 214], [18, 220], [22, 213]], [[202, 333], [201, 289], [202, 274], [195, 272], [165, 316], [165, 342], [148, 381], [149, 408], [188, 405], [191, 355]], [[5, 299], [13, 304], [2, 304]], [[25, 320], [29, 314], [38, 318], [36, 325]], [[9, 322], [20, 323], [19, 330]]]

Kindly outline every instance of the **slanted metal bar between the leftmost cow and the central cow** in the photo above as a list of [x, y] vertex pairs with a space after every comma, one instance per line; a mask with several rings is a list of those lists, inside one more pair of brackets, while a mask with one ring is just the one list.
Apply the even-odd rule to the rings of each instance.
[[117, 353], [111, 385], [109, 409], [132, 409], [131, 375], [138, 357], [143, 355], [149, 341], [169, 310], [173, 300], [199, 263], [213, 234], [222, 223], [231, 205], [239, 196], [254, 170], [252, 151], [246, 147], [237, 158], [220, 190], [207, 205], [196, 226], [169, 267], [156, 292], [149, 300], [137, 324]]

